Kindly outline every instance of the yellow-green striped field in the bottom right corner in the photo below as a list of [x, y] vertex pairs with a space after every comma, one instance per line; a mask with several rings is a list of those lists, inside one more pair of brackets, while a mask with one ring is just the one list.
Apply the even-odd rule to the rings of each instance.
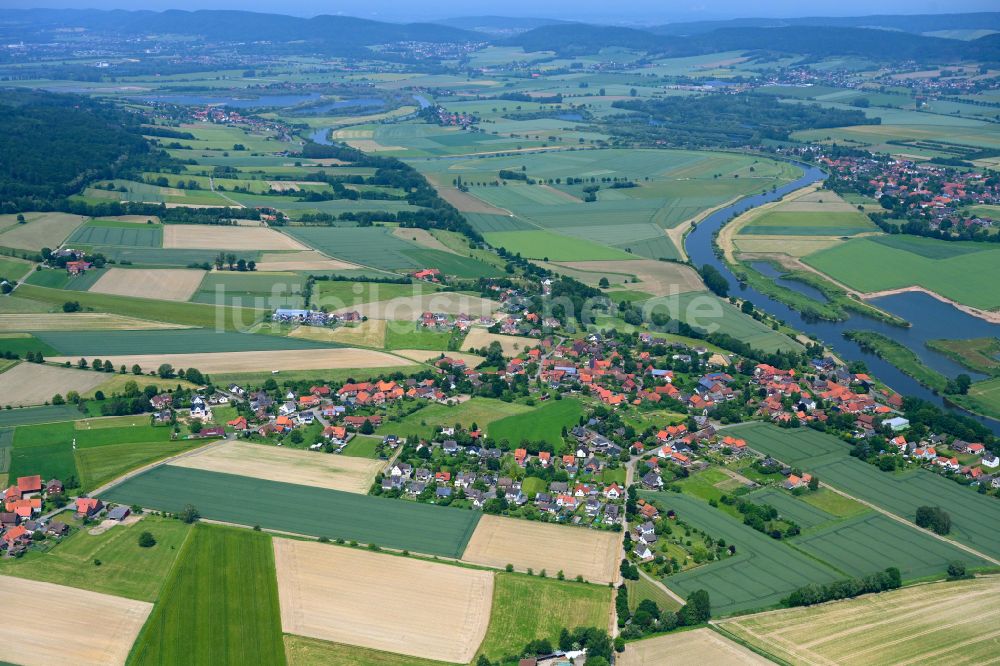
[[984, 664], [1000, 650], [1000, 576], [916, 585], [720, 626], [794, 664]]

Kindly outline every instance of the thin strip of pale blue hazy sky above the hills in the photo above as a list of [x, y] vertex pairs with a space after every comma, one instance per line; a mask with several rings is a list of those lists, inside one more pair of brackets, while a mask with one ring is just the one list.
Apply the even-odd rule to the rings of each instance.
[[997, 0], [0, 0], [2, 7], [97, 9], [244, 9], [312, 16], [347, 14], [386, 21], [419, 21], [496, 14], [614, 23], [665, 23], [748, 16], [860, 16], [996, 11]]

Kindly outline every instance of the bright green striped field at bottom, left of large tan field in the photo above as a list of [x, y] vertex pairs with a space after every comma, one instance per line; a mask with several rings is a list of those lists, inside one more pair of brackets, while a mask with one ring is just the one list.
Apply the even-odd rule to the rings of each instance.
[[130, 664], [284, 664], [271, 537], [197, 525]]

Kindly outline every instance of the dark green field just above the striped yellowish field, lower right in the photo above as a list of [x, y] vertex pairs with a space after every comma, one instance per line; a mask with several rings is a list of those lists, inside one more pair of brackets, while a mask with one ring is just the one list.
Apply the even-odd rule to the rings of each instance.
[[792, 543], [850, 577], [898, 567], [903, 580], [940, 576], [948, 563], [989, 566], [971, 553], [881, 513], [867, 513], [796, 537]]

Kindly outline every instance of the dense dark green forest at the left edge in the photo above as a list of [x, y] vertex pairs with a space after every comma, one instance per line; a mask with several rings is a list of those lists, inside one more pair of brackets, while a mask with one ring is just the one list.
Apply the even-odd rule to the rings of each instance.
[[0, 212], [64, 210], [89, 181], [158, 171], [171, 158], [140, 117], [77, 95], [0, 94]]

